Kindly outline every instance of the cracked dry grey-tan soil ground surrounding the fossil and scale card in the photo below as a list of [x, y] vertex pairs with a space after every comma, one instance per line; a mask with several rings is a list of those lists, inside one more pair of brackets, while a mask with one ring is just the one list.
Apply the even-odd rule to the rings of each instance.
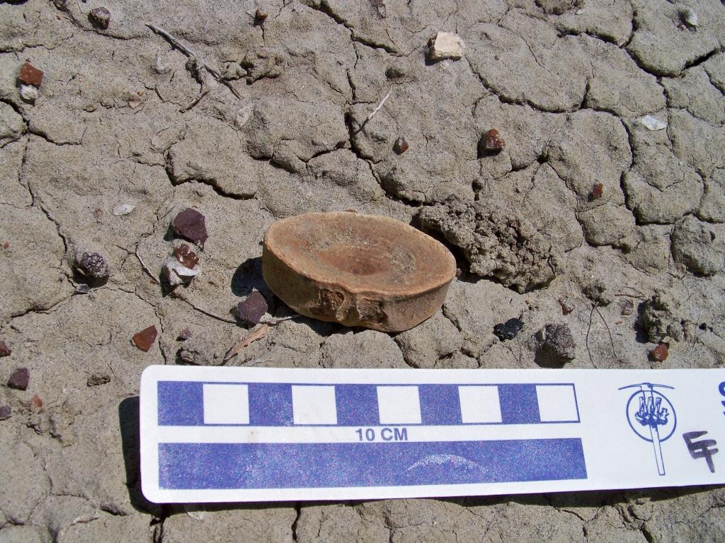
[[[463, 58], [426, 60], [439, 31]], [[574, 358], [558, 365], [720, 367], [720, 1], [4, 1], [0, 51], [0, 382], [30, 373], [25, 391], [0, 387], [0, 541], [725, 541], [717, 487], [154, 505], [136, 397], [149, 364], [223, 363], [247, 333], [191, 304], [233, 321], [257, 288], [268, 317], [289, 314], [260, 243], [308, 211], [421, 227], [462, 274], [408, 332], [284, 321], [229, 364], [538, 368], [531, 338], [568, 324]], [[34, 103], [26, 61], [44, 72]], [[481, 143], [491, 129], [499, 153]], [[202, 272], [167, 292], [136, 255], [158, 276], [188, 207], [207, 220]], [[79, 253], [103, 256], [107, 282], [84, 290]], [[521, 332], [498, 340], [514, 318]], [[130, 338], [151, 326], [143, 352]]]

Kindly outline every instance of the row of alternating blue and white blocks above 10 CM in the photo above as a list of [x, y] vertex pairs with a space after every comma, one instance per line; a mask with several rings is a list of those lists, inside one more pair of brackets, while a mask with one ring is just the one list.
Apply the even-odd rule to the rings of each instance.
[[159, 426], [579, 422], [573, 384], [158, 382]]

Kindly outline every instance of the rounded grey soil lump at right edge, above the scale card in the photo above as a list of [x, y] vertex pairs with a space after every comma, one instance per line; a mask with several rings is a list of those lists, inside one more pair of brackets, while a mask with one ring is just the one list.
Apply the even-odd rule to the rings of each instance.
[[672, 232], [672, 256], [695, 274], [713, 275], [725, 267], [725, 228], [687, 216]]

